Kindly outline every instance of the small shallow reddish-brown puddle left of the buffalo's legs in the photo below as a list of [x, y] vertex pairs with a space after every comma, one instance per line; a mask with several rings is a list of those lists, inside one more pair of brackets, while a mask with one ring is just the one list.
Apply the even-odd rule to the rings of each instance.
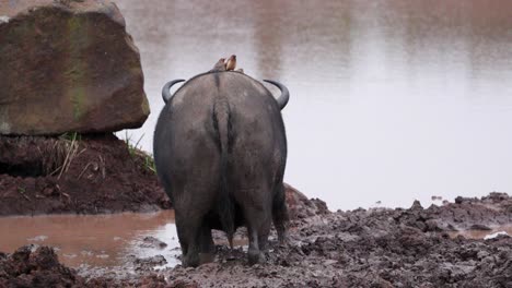
[[[0, 251], [12, 253], [34, 243], [57, 249], [59, 260], [77, 267], [120, 266], [129, 255], [164, 255], [175, 265], [179, 254], [174, 226], [174, 212], [114, 215], [55, 215], [36, 217], [0, 217]], [[165, 249], [142, 245], [152, 236], [167, 243]]]

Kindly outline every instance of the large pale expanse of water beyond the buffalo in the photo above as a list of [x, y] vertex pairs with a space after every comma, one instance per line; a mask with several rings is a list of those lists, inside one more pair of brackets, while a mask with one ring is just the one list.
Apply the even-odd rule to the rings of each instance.
[[289, 87], [284, 180], [331, 209], [512, 191], [512, 1], [117, 2], [152, 109], [129, 132], [146, 151], [162, 85], [235, 53]]

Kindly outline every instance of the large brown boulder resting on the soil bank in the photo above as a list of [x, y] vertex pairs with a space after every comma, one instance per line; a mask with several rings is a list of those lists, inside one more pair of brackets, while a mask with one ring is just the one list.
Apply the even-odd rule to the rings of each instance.
[[106, 0], [0, 1], [0, 134], [138, 128], [140, 56]]

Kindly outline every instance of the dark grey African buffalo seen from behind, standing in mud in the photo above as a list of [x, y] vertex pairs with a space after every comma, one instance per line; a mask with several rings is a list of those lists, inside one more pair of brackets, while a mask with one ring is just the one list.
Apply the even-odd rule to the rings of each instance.
[[210, 71], [187, 81], [166, 103], [154, 131], [156, 171], [175, 208], [184, 266], [211, 255], [211, 229], [226, 232], [230, 244], [238, 226], [247, 227], [251, 264], [264, 261], [270, 225], [286, 238], [288, 211], [282, 178], [287, 137], [281, 109], [258, 81], [238, 72]]

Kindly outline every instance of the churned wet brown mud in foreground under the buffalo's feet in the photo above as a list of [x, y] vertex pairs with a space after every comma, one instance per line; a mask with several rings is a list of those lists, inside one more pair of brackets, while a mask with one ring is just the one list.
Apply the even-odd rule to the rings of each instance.
[[512, 197], [491, 193], [428, 208], [415, 203], [407, 209], [299, 218], [290, 243], [280, 247], [272, 235], [267, 263], [255, 266], [247, 265], [244, 247], [230, 251], [223, 244], [213, 263], [198, 268], [154, 271], [162, 264], [154, 256], [133, 259], [138, 266], [130, 273], [70, 269], [49, 249], [21, 248], [0, 254], [0, 287], [511, 287], [510, 236], [484, 240], [454, 233], [491, 235], [511, 224]]

